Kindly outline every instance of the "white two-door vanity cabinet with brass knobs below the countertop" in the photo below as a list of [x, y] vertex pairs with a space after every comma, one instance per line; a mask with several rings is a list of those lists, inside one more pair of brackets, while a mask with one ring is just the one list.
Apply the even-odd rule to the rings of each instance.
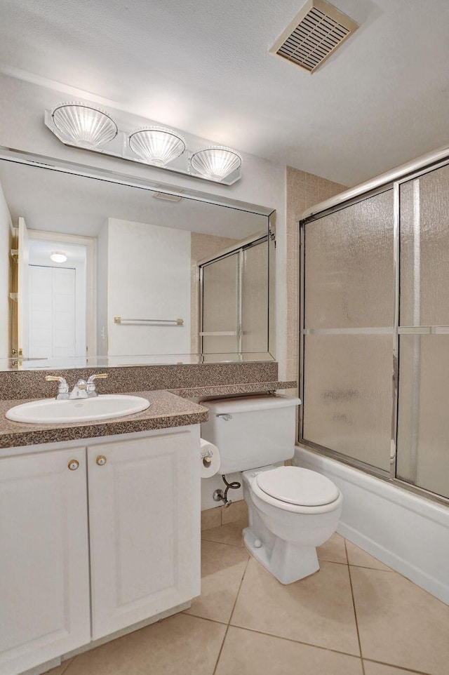
[[199, 425], [57, 448], [0, 451], [0, 675], [200, 592]]

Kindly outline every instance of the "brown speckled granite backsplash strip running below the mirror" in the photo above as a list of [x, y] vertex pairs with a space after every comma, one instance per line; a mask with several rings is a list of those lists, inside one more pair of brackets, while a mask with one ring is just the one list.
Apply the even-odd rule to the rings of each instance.
[[[70, 370], [19, 370], [0, 372], [0, 399], [43, 399], [55, 396], [58, 385], [46, 382], [46, 375], [65, 377], [69, 387], [99, 368]], [[247, 382], [274, 382], [278, 364], [273, 361], [255, 363], [201, 363], [185, 366], [127, 366], [106, 368], [107, 380], [98, 382], [100, 394], [126, 394], [155, 389], [192, 389], [213, 385], [243, 385]]]

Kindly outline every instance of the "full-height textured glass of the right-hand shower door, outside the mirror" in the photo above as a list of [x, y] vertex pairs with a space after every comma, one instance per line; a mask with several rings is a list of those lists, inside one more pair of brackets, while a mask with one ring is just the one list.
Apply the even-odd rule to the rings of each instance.
[[396, 477], [449, 497], [449, 167], [399, 194]]

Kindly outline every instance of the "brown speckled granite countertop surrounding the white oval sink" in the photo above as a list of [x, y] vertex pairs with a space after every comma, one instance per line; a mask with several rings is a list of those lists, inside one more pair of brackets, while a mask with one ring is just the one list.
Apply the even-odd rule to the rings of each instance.
[[0, 448], [17, 448], [38, 443], [62, 443], [78, 439], [93, 439], [99, 436], [146, 432], [151, 429], [198, 425], [206, 422], [208, 418], [207, 408], [170, 392], [135, 392], [135, 396], [143, 396], [147, 399], [150, 403], [149, 408], [142, 410], [141, 413], [114, 417], [101, 422], [69, 422], [53, 425], [25, 424], [6, 419], [5, 413], [9, 408], [34, 399], [0, 401]]

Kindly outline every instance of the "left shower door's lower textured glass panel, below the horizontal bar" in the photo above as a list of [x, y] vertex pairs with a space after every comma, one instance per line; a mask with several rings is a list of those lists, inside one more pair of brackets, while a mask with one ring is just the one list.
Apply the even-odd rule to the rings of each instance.
[[308, 335], [304, 440], [389, 470], [393, 357], [389, 335]]

